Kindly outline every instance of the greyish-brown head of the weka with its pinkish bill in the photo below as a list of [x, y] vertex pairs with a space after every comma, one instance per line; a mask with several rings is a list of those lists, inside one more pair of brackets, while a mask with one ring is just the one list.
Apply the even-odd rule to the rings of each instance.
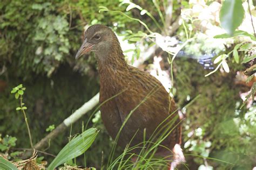
[[115, 38], [114, 32], [107, 26], [100, 24], [90, 26], [84, 33], [84, 42], [76, 54], [76, 59], [90, 51], [98, 56], [106, 55], [111, 51]]

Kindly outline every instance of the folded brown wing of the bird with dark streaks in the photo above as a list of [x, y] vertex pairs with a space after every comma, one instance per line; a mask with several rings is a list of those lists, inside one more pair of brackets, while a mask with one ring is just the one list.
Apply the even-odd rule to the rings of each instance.
[[[130, 75], [131, 77], [125, 79], [127, 90], [115, 97], [119, 115], [124, 122], [125, 118], [132, 112], [125, 126], [132, 128], [125, 129], [126, 136], [133, 137], [139, 129], [138, 136], [143, 137], [145, 128], [150, 136], [157, 126], [176, 110], [176, 105], [172, 100], [169, 100], [169, 94], [163, 85], [152, 75], [139, 69], [132, 69]], [[171, 121], [175, 115], [177, 114], [173, 114], [168, 121]], [[175, 137], [173, 136], [173, 138], [177, 138], [177, 132], [174, 133]]]

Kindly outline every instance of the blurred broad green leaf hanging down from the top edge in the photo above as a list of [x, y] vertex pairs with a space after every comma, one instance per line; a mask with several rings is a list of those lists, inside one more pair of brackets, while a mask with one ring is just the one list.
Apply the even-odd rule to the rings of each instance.
[[226, 0], [220, 9], [220, 25], [228, 34], [233, 35], [235, 29], [244, 19], [244, 8], [241, 0]]

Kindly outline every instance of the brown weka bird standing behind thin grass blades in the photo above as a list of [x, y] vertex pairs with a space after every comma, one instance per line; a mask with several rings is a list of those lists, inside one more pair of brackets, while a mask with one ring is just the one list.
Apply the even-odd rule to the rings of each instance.
[[[76, 58], [90, 51], [96, 54], [100, 76], [99, 102], [103, 103], [112, 97], [100, 107], [100, 112], [105, 128], [113, 139], [117, 136], [126, 116], [156, 89], [152, 95], [146, 98], [145, 102], [132, 112], [120, 132], [118, 144], [125, 147], [134, 134], [136, 136], [131, 145], [141, 143], [144, 129], [146, 129], [146, 138], [149, 139], [157, 126], [176, 111], [174, 101], [170, 100], [169, 94], [155, 77], [127, 65], [119, 41], [109, 27], [98, 24], [90, 26], [84, 36], [84, 42], [78, 50]], [[117, 95], [118, 93], [120, 94]], [[177, 118], [177, 112], [166, 122], [171, 121], [175, 116]], [[177, 124], [179, 124], [179, 118], [174, 123], [176, 128], [161, 143], [170, 149], [180, 143], [180, 125]], [[169, 153], [169, 155], [171, 154]], [[166, 154], [162, 155], [166, 156]]]

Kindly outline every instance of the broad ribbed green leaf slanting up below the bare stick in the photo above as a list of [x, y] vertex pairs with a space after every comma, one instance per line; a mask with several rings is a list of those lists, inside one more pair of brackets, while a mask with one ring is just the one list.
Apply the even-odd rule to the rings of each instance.
[[82, 134], [79, 134], [79, 136], [73, 138], [68, 144], [66, 144], [66, 146], [62, 148], [47, 169], [55, 169], [64, 162], [83, 154], [91, 146], [97, 134], [97, 129], [90, 128], [84, 131]]

